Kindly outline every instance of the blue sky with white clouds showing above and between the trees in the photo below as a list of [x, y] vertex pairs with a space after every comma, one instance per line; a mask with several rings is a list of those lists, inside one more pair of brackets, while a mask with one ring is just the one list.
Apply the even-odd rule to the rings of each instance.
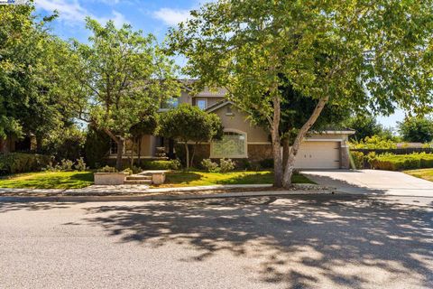
[[[61, 38], [76, 38], [86, 42], [88, 32], [84, 18], [91, 16], [99, 22], [109, 19], [117, 26], [130, 23], [134, 30], [153, 33], [162, 42], [167, 29], [187, 19], [189, 10], [198, 8], [205, 0], [35, 0], [37, 13], [51, 14], [57, 10], [60, 17], [51, 23], [52, 32]], [[383, 126], [396, 126], [404, 117], [397, 111], [391, 117], [378, 117]]]

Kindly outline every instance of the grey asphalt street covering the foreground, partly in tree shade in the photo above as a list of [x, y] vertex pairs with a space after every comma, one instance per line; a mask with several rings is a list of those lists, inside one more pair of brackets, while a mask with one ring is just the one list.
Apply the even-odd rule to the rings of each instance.
[[433, 198], [0, 202], [1, 288], [432, 288]]

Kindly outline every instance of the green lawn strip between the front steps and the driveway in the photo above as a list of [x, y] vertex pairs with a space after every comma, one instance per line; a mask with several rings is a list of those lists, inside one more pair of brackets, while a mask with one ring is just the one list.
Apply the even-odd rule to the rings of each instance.
[[[307, 177], [296, 174], [293, 183], [314, 183]], [[273, 172], [168, 172], [163, 187], [206, 186], [214, 184], [258, 184], [272, 183]], [[161, 187], [160, 186], [160, 187]]]

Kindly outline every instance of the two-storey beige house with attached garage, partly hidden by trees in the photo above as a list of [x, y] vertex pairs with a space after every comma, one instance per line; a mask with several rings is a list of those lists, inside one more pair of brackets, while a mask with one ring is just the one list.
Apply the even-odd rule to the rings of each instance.
[[[177, 107], [180, 103], [189, 103], [198, 106], [209, 113], [217, 114], [225, 127], [222, 140], [210, 144], [198, 144], [196, 160], [203, 158], [231, 158], [248, 159], [250, 162], [260, 162], [272, 159], [272, 144], [269, 133], [263, 127], [253, 126], [244, 112], [237, 109], [234, 104], [227, 101], [226, 91], [201, 91], [192, 95], [188, 90], [182, 91], [180, 98], [167, 103], [161, 111]], [[324, 131], [309, 135], [301, 144], [295, 166], [302, 169], [339, 169], [349, 168], [347, 136], [354, 134], [350, 129]], [[136, 146], [136, 145], [134, 145]], [[124, 157], [131, 158], [132, 143], [125, 145]], [[170, 156], [174, 152], [171, 140], [154, 135], [144, 135], [142, 139], [141, 158], [152, 159], [160, 156], [161, 151]], [[134, 157], [137, 156], [134, 150]], [[112, 144], [110, 157], [115, 158], [116, 145]]]

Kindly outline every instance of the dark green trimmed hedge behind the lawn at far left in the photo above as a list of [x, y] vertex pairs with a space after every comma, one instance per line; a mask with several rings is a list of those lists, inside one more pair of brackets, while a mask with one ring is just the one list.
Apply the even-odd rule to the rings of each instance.
[[0, 154], [0, 174], [41, 171], [51, 162], [51, 156], [43, 154]]

